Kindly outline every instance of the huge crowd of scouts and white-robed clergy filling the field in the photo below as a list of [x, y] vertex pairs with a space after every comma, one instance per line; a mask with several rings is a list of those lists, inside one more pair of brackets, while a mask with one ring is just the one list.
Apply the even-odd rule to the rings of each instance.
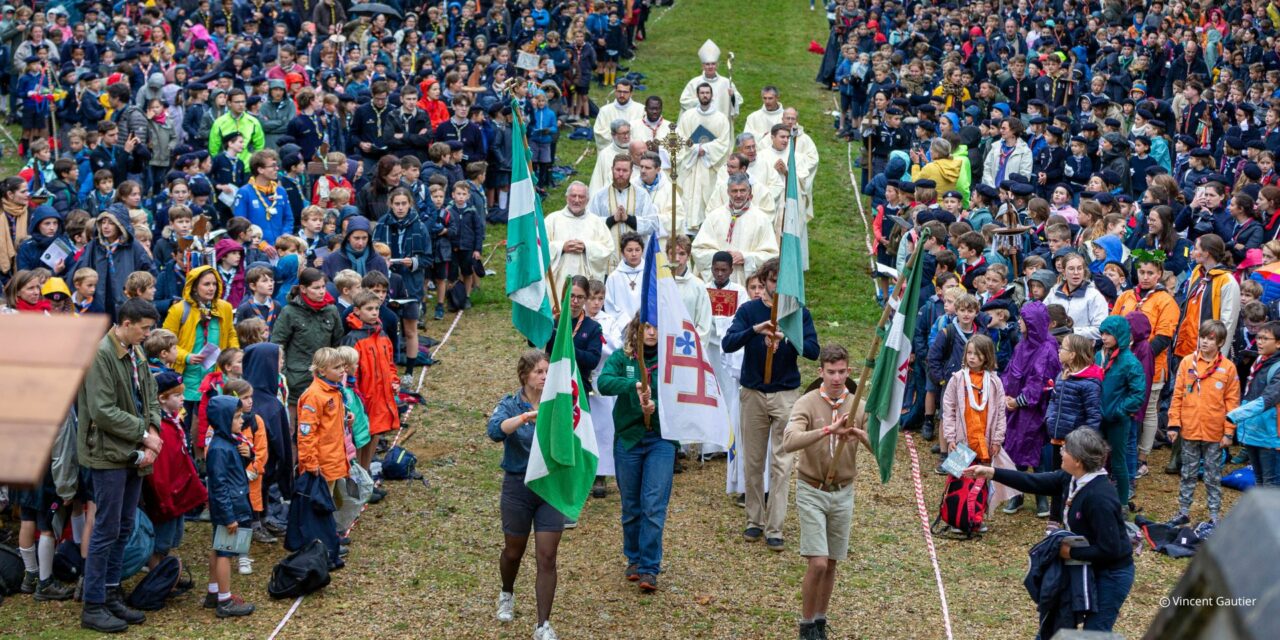
[[[772, 552], [787, 549], [795, 474], [799, 634], [833, 635], [855, 451], [870, 445], [849, 384], [859, 361], [820, 343], [808, 310], [803, 343], [771, 320], [787, 211], [814, 215], [818, 146], [776, 86], [745, 108], [710, 40], [678, 104], [641, 99], [644, 74], [626, 65], [654, 4], [0, 9], [24, 159], [0, 183], [4, 310], [113, 321], [63, 428], [78, 458], [10, 494], [22, 591], [78, 596], [84, 627], [122, 631], [145, 620], [120, 589], [140, 517], [156, 566], [192, 521], [265, 545], [303, 526], [287, 507], [301, 486], [340, 502], [338, 483], [378, 465], [420, 399], [406, 392], [434, 364], [431, 319], [468, 308], [490, 274], [486, 223], [526, 205], [511, 188], [518, 119], [539, 195], [564, 188], [545, 218], [548, 270], [570, 283], [600, 452], [591, 495], [613, 477], [621, 575], [658, 590], [681, 458], [724, 460], [742, 539]], [[940, 439], [940, 457], [970, 449], [966, 475], [1036, 495], [1050, 535], [1083, 538], [1060, 553], [1094, 566], [1097, 599], [1061, 625], [1110, 630], [1134, 581], [1126, 520], [1192, 525], [1203, 483], [1208, 535], [1229, 465], [1280, 484], [1280, 6], [826, 9], [818, 81], [840, 115], [822, 136], [861, 150], [882, 303], [922, 256], [902, 428]], [[612, 90], [599, 105], [596, 83]], [[594, 168], [557, 184], [571, 133]], [[640, 384], [658, 358], [637, 315], [650, 238], [728, 403], [727, 448], [664, 438]], [[497, 618], [516, 617], [532, 534], [544, 640], [561, 534], [576, 526], [524, 483], [550, 346], [518, 356], [486, 429], [504, 449]], [[1166, 445], [1178, 503], [1139, 507]], [[67, 522], [84, 563], [74, 588], [52, 576]], [[324, 532], [333, 568], [343, 534]], [[204, 605], [218, 617], [253, 612], [233, 570], [252, 573], [251, 554], [210, 550]]]

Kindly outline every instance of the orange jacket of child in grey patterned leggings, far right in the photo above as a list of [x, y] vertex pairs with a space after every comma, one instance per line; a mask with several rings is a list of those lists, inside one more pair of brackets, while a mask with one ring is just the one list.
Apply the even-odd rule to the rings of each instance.
[[1169, 428], [1181, 428], [1180, 436], [1188, 440], [1217, 442], [1235, 433], [1226, 413], [1240, 406], [1240, 376], [1231, 358], [1225, 356], [1212, 371], [1210, 366], [1212, 364], [1199, 352], [1183, 358], [1178, 366]]

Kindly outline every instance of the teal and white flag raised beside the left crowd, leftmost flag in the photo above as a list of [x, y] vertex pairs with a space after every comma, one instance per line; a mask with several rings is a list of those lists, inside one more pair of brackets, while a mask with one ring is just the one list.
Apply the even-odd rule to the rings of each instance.
[[511, 298], [511, 324], [535, 347], [543, 347], [556, 325], [550, 287], [547, 283], [547, 268], [552, 257], [547, 246], [543, 205], [529, 172], [530, 157], [529, 145], [525, 142], [525, 123], [517, 116], [511, 125], [507, 297]]

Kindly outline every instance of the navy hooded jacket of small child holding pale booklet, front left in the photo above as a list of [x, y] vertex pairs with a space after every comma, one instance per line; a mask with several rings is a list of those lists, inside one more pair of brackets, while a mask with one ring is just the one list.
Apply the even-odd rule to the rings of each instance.
[[209, 474], [209, 518], [215, 525], [253, 520], [253, 507], [248, 502], [247, 460], [237, 451], [238, 442], [232, 434], [232, 419], [239, 410], [239, 398], [215, 396], [209, 401], [209, 425], [214, 436], [205, 453]]

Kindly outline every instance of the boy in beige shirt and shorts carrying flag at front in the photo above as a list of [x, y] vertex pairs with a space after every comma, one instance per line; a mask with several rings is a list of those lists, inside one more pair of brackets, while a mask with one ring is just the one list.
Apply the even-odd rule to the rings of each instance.
[[[818, 355], [818, 367], [822, 384], [796, 401], [782, 433], [782, 449], [800, 452], [796, 512], [800, 516], [800, 556], [809, 561], [800, 588], [804, 602], [801, 640], [827, 637], [827, 604], [836, 585], [836, 562], [849, 556], [858, 443], [870, 449], [867, 431], [850, 421], [854, 394], [845, 387], [849, 352], [838, 344], [828, 344]], [[845, 440], [842, 449], [841, 440]], [[838, 457], [837, 449], [841, 449]], [[824, 484], [832, 467], [832, 481]]]

